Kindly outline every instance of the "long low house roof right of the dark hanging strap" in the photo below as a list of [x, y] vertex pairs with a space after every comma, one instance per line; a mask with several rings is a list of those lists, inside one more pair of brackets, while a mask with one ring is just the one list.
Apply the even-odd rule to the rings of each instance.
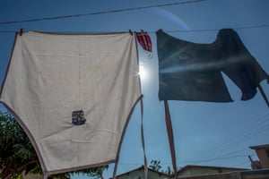
[[[178, 170], [178, 178], [195, 175], [217, 175], [231, 172], [246, 171], [247, 168], [223, 167], [223, 166], [194, 166], [187, 165]], [[171, 178], [174, 175], [170, 176]]]

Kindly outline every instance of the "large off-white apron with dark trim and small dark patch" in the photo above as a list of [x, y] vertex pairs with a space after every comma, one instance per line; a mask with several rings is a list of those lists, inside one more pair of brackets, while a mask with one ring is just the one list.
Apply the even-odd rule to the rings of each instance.
[[141, 98], [129, 33], [17, 36], [0, 101], [30, 137], [44, 173], [115, 162]]

